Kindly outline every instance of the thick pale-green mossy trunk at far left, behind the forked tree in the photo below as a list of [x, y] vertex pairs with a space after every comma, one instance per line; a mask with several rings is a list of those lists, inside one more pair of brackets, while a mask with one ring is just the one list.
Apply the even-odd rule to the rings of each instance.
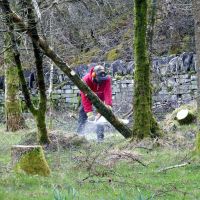
[[[5, 48], [11, 45], [9, 34], [5, 34]], [[19, 78], [16, 76], [14, 53], [12, 48], [4, 53], [5, 66], [5, 114], [7, 131], [17, 131], [25, 127], [19, 99]]]

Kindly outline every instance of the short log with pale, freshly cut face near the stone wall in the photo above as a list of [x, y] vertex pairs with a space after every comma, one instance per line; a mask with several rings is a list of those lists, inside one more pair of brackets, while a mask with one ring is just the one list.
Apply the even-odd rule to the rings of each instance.
[[182, 109], [177, 113], [176, 119], [181, 125], [190, 124], [195, 119], [195, 116], [188, 109]]

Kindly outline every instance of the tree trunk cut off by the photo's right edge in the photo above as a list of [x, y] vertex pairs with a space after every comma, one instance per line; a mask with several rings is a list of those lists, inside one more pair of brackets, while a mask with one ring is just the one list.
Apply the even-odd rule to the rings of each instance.
[[195, 45], [196, 45], [196, 68], [197, 68], [197, 126], [196, 151], [200, 152], [200, 1], [193, 0], [193, 13], [195, 20]]

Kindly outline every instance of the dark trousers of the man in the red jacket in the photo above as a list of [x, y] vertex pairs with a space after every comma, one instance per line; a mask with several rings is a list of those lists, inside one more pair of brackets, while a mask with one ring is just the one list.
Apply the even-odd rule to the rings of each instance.
[[[80, 110], [79, 110], [79, 118], [78, 118], [78, 128], [77, 128], [78, 134], [84, 134], [84, 128], [85, 128], [86, 122], [87, 122], [87, 114], [84, 111], [83, 106], [81, 105]], [[104, 126], [97, 124], [96, 133], [97, 133], [97, 140], [103, 140], [104, 139]]]

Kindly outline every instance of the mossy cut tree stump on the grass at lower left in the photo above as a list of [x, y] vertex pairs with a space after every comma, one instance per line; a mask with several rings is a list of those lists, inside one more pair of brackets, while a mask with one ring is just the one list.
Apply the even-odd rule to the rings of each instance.
[[11, 148], [14, 170], [24, 171], [31, 175], [49, 176], [50, 169], [44, 157], [42, 146], [14, 145]]

